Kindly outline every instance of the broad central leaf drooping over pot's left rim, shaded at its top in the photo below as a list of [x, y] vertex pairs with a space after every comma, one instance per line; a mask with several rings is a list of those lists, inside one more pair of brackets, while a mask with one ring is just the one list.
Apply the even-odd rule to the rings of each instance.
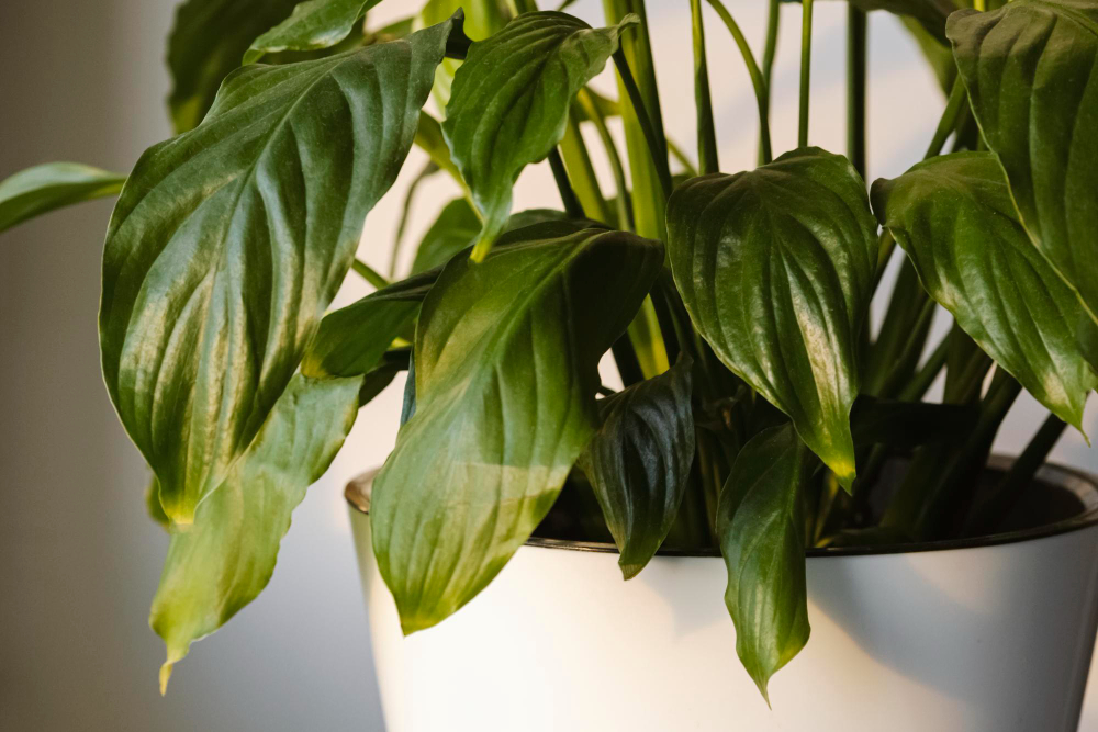
[[598, 426], [598, 359], [640, 306], [663, 247], [568, 226], [519, 229], [479, 264], [451, 259], [424, 301], [415, 410], [370, 514], [405, 633], [439, 622], [503, 568]]

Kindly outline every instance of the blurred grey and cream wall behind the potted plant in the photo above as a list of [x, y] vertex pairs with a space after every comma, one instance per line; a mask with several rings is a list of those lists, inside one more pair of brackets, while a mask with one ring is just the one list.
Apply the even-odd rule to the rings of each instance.
[[[385, 0], [371, 11], [371, 25], [417, 4]], [[49, 160], [127, 171], [143, 149], [169, 136], [163, 59], [173, 5], [2, 0], [0, 179]], [[664, 119], [674, 139], [693, 150], [688, 4], [649, 0], [648, 7]], [[765, 3], [729, 0], [728, 7], [761, 53]], [[725, 27], [706, 10], [720, 162], [736, 171], [754, 164], [754, 99]], [[597, 0], [569, 12], [602, 24]], [[799, 10], [786, 5], [772, 94], [775, 155], [795, 146], [799, 23]], [[817, 5], [810, 142], [834, 151], [845, 145], [844, 38], [845, 3]], [[614, 89], [608, 75], [595, 86]], [[919, 159], [942, 104], [915, 42], [898, 21], [874, 13], [870, 180], [899, 174]], [[359, 256], [381, 271], [389, 270], [400, 206], [423, 160], [413, 150], [367, 221]], [[600, 173], [612, 191], [609, 171]], [[442, 176], [419, 188], [405, 237], [408, 258], [455, 194]], [[403, 380], [360, 413], [344, 451], [294, 514], [267, 590], [192, 647], [160, 698], [163, 645], [147, 615], [167, 536], [146, 518], [148, 475], [99, 371], [100, 256], [111, 205], [85, 204], [0, 235], [0, 730], [380, 732], [343, 485], [391, 450]], [[527, 169], [515, 210], [556, 205], [548, 168]], [[336, 304], [366, 292], [348, 282]], [[1023, 395], [996, 449], [1020, 450], [1043, 417]], [[1086, 425], [1096, 431], [1093, 405]], [[1053, 458], [1098, 472], [1098, 451], [1075, 432]], [[1085, 732], [1098, 731], [1096, 696], [1084, 709]]]

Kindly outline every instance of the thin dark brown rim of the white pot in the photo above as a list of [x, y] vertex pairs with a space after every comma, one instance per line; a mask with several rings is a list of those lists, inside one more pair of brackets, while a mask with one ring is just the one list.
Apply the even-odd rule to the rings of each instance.
[[[1006, 455], [991, 455], [988, 458], [987, 466], [994, 470], [1005, 471], [1015, 462], [1013, 458]], [[367, 471], [347, 484], [344, 496], [347, 503], [355, 510], [369, 515], [370, 498], [366, 493], [367, 487], [373, 482], [373, 477], [381, 469]], [[827, 556], [872, 556], [876, 554], [907, 554], [911, 552], [949, 551], [959, 549], [978, 549], [983, 547], [996, 547], [998, 544], [1011, 544], [1032, 539], [1044, 539], [1069, 531], [1077, 531], [1087, 527], [1098, 525], [1098, 477], [1089, 473], [1057, 463], [1042, 464], [1034, 475], [1034, 480], [1054, 485], [1069, 491], [1083, 504], [1083, 510], [1069, 518], [1061, 519], [1052, 523], [1037, 526], [1029, 529], [1016, 531], [1002, 531], [984, 537], [970, 537], [964, 539], [940, 539], [935, 541], [917, 541], [907, 543], [873, 544], [862, 547], [821, 547], [805, 550], [808, 558]], [[569, 539], [548, 539], [544, 537], [530, 537], [526, 540], [527, 547], [540, 547], [542, 549], [564, 549], [569, 551], [595, 552], [602, 554], [617, 554], [616, 545], [604, 541], [572, 541]], [[719, 549], [675, 549], [661, 548], [657, 552], [658, 556], [720, 556]]]

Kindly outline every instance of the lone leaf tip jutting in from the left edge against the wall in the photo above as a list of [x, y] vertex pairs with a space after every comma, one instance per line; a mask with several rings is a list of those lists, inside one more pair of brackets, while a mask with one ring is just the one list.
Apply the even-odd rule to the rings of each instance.
[[46, 162], [0, 181], [0, 232], [44, 213], [122, 190], [126, 177], [79, 162]]

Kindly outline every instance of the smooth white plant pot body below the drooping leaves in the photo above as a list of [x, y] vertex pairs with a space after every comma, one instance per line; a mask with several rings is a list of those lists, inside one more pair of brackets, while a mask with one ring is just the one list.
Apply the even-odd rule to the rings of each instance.
[[811, 639], [771, 679], [773, 710], [736, 657], [717, 556], [658, 555], [623, 582], [606, 545], [531, 542], [405, 639], [352, 507], [388, 731], [1074, 731], [1098, 622], [1098, 486], [1051, 465], [1039, 477], [1072, 516], [811, 551]]

